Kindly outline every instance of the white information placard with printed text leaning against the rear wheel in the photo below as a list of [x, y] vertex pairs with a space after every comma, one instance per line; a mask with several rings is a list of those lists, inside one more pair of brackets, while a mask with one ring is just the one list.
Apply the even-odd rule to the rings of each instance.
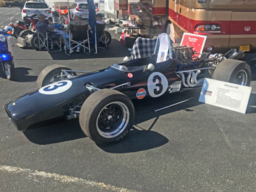
[[252, 87], [204, 79], [199, 101], [220, 108], [245, 113]]

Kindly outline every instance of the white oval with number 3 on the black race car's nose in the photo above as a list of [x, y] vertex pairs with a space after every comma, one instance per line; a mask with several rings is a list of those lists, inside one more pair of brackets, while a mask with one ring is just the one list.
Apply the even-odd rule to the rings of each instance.
[[72, 81], [64, 80], [56, 83], [47, 84], [38, 90], [39, 93], [45, 95], [56, 95], [67, 91], [72, 86]]

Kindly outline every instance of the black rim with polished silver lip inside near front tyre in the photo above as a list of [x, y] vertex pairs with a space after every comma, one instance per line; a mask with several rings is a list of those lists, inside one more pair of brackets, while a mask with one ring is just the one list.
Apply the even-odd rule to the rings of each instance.
[[111, 102], [97, 117], [97, 131], [104, 138], [115, 138], [122, 134], [129, 123], [130, 113], [122, 102]]

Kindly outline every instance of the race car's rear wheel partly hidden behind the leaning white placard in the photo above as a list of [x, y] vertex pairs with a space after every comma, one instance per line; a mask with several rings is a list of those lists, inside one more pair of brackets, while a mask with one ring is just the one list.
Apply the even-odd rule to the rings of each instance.
[[250, 86], [252, 72], [244, 61], [224, 60], [214, 70], [212, 79]]

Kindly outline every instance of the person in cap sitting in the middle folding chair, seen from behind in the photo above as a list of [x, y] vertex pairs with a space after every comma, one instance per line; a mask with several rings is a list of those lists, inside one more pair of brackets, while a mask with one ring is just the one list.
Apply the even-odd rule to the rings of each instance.
[[[65, 39], [65, 42], [66, 42], [66, 45], [64, 47], [64, 49], [67, 49], [68, 50], [68, 47], [69, 47], [69, 40], [68, 38], [72, 38], [72, 36], [69, 36], [69, 29], [70, 29], [70, 24], [72, 25], [76, 25], [76, 26], [81, 26], [81, 25], [87, 25], [88, 22], [86, 20], [82, 20], [82, 17], [83, 15], [81, 13], [76, 13], [74, 19], [75, 20], [71, 20], [70, 22], [68, 22], [68, 26], [67, 26], [67, 29], [66, 29], [66, 39], [65, 39], [65, 34], [63, 35], [63, 38]], [[89, 29], [90, 29], [90, 26], [89, 26]], [[81, 41], [78, 41], [78, 43], [81, 43]], [[80, 52], [80, 45], [77, 46], [77, 49], [76, 49], [76, 52]], [[70, 50], [70, 52], [74, 52], [74, 50]]]

